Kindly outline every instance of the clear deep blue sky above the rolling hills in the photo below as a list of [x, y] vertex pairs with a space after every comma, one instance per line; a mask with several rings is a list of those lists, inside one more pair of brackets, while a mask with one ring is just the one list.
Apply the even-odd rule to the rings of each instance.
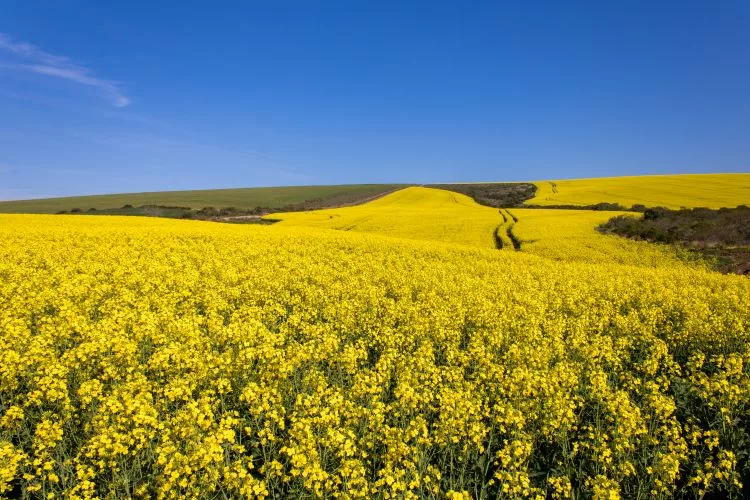
[[0, 4], [0, 199], [750, 171], [750, 3]]

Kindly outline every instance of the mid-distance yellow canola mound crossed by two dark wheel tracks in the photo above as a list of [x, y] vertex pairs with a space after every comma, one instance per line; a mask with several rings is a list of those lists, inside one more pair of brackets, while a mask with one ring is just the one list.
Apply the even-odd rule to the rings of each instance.
[[[325, 228], [383, 236], [460, 243], [513, 250], [507, 233], [521, 241], [521, 251], [557, 261], [615, 262], [638, 266], [682, 266], [687, 254], [666, 245], [602, 235], [596, 227], [632, 212], [557, 209], [502, 209], [477, 204], [470, 197], [442, 189], [411, 187], [369, 203], [337, 209], [276, 213], [276, 226]], [[512, 217], [518, 219], [515, 222]], [[495, 237], [496, 235], [496, 237]]]

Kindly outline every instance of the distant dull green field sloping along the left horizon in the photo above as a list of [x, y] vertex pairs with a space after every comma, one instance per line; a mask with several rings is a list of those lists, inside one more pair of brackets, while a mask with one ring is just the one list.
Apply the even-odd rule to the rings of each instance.
[[161, 191], [151, 193], [71, 196], [38, 200], [2, 201], [0, 213], [55, 213], [80, 209], [103, 210], [124, 205], [163, 205], [200, 209], [204, 207], [252, 210], [316, 209], [356, 204], [404, 187], [396, 184], [352, 184], [342, 186], [292, 186], [199, 191]]

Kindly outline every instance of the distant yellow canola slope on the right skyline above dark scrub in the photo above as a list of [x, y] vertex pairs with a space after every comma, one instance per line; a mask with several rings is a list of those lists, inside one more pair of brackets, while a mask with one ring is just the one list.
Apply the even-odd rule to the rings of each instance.
[[641, 175], [535, 182], [529, 205], [619, 203], [647, 207], [736, 207], [750, 204], [750, 173]]

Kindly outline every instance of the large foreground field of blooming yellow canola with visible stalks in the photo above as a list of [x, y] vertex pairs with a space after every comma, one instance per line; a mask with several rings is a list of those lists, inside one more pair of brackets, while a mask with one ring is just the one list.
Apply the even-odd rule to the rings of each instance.
[[0, 277], [0, 495], [741, 496], [743, 277], [88, 216]]

